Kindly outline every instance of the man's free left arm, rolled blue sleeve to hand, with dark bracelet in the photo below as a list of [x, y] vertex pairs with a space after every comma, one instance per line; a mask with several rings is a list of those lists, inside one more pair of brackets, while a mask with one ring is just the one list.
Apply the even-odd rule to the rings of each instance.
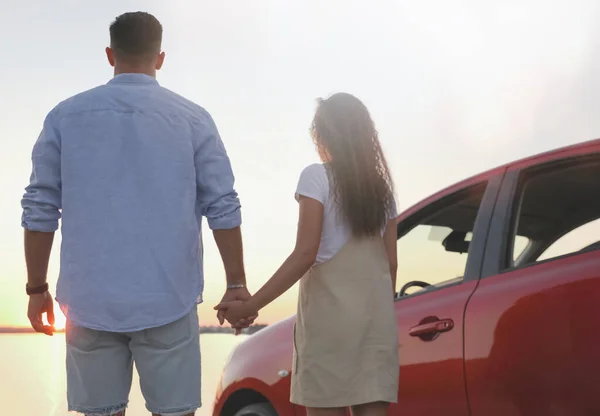
[[[53, 112], [44, 121], [44, 128], [33, 147], [32, 173], [21, 201], [25, 228], [25, 261], [27, 288], [34, 292], [29, 298], [27, 315], [37, 332], [52, 335], [54, 304], [46, 287], [48, 262], [54, 232], [58, 229], [61, 209], [60, 134]], [[41, 290], [38, 290], [41, 289]], [[46, 313], [51, 326], [45, 326]]]

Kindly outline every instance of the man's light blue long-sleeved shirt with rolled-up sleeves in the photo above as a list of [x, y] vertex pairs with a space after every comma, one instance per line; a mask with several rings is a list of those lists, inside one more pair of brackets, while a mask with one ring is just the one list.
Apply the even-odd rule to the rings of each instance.
[[201, 302], [202, 217], [241, 224], [229, 158], [211, 116], [142, 74], [56, 106], [33, 148], [22, 225], [53, 232], [56, 299], [88, 328], [173, 322]]

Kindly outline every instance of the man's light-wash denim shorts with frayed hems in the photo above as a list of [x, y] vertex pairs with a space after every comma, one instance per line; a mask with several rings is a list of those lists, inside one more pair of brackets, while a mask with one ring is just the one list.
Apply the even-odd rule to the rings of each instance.
[[182, 416], [201, 406], [196, 307], [183, 318], [136, 332], [106, 332], [67, 322], [69, 411], [109, 416], [129, 401], [133, 363], [146, 408]]

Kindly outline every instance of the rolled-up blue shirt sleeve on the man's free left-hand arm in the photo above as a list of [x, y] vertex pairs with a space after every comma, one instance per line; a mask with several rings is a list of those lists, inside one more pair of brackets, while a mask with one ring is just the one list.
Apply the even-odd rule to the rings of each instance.
[[57, 117], [52, 111], [33, 146], [31, 177], [21, 200], [21, 225], [30, 231], [54, 232], [58, 229], [62, 208], [58, 127]]

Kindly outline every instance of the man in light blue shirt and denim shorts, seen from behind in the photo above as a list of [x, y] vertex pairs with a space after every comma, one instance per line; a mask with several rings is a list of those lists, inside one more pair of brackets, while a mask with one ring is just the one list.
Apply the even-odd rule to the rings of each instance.
[[250, 296], [229, 158], [211, 116], [157, 83], [161, 41], [154, 16], [117, 17], [106, 48], [114, 78], [48, 114], [22, 201], [28, 316], [47, 335], [62, 211], [56, 299], [67, 316], [68, 407], [86, 415], [125, 414], [133, 362], [152, 414], [201, 406], [203, 216], [225, 266], [224, 300]]

